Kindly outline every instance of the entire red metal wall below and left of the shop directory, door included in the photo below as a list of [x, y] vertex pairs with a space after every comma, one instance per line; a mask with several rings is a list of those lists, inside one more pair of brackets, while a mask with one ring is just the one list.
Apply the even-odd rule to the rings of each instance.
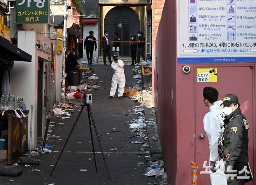
[[[198, 139], [198, 133], [202, 132], [203, 115], [209, 111], [203, 105], [203, 85], [216, 87], [222, 99], [224, 94], [238, 93], [238, 99], [241, 105], [250, 102], [252, 110], [248, 114], [245, 106], [241, 106], [245, 116], [250, 117], [249, 123], [249, 156], [250, 164], [254, 172], [256, 171], [256, 129], [255, 129], [255, 64], [254, 63], [230, 63], [230, 64], [180, 64], [177, 63], [177, 31], [176, 31], [176, 0], [165, 1], [162, 18], [158, 28], [155, 45], [155, 68], [154, 68], [154, 90], [156, 119], [158, 122], [158, 132], [163, 148], [163, 155], [168, 173], [168, 181], [171, 185], [189, 185], [191, 184], [191, 161], [207, 161], [209, 156], [208, 138], [205, 135], [204, 140]], [[185, 74], [182, 72], [182, 66], [189, 65], [191, 72]], [[246, 98], [242, 86], [246, 80], [232, 81], [233, 75], [239, 75], [239, 70], [232, 72], [232, 68], [240, 67], [241, 70], [252, 66], [253, 78], [246, 84], [244, 91], [252, 91], [252, 97]], [[204, 83], [198, 86], [196, 84], [197, 68], [219, 68], [222, 73], [218, 75], [217, 83]], [[245, 70], [244, 70], [245, 72]], [[224, 74], [224, 75], [223, 75]], [[226, 75], [226, 76], [225, 76]], [[239, 90], [235, 86], [240, 84]], [[232, 92], [228, 92], [227, 87], [232, 87]], [[172, 93], [173, 90], [173, 99]], [[201, 105], [202, 104], [202, 105]], [[196, 110], [198, 108], [198, 110]], [[251, 116], [253, 114], [253, 116]], [[249, 116], [250, 115], [250, 116]], [[194, 135], [195, 134], [195, 135]], [[202, 141], [202, 142], [201, 142]], [[203, 171], [202, 164], [198, 164]], [[199, 185], [210, 185], [209, 175], [198, 176]], [[249, 183], [248, 185], [256, 185]]]

